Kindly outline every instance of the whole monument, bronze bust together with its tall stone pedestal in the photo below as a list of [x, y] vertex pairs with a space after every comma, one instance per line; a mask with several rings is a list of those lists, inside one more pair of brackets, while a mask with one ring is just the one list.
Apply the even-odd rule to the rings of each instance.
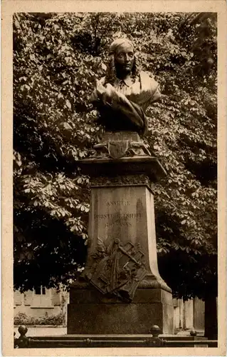
[[171, 289], [159, 275], [152, 186], [166, 174], [144, 145], [147, 106], [159, 85], [139, 70], [134, 46], [110, 46], [105, 78], [92, 101], [105, 134], [80, 161], [90, 176], [88, 258], [70, 289], [68, 334], [173, 333]]

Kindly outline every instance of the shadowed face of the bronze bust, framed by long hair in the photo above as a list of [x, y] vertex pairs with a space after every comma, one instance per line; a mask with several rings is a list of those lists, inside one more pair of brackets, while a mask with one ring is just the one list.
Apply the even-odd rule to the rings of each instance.
[[122, 44], [115, 51], [115, 65], [124, 72], [131, 72], [134, 64], [134, 51], [130, 44]]

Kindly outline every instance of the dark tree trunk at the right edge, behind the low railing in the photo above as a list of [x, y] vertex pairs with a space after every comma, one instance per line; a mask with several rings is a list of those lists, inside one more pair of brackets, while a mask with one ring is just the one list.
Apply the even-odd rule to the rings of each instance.
[[216, 297], [209, 297], [205, 300], [205, 333], [208, 340], [218, 339], [218, 314]]

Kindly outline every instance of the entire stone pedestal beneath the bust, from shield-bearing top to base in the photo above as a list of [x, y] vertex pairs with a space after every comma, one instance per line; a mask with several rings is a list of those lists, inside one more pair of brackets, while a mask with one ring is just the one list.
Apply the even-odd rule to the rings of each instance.
[[[157, 266], [151, 186], [164, 169], [135, 133], [106, 134], [96, 149], [80, 162], [91, 176], [89, 247], [85, 272], [70, 290], [68, 333], [142, 334], [152, 325], [173, 333], [171, 289]], [[130, 156], [116, 157], [124, 150]]]

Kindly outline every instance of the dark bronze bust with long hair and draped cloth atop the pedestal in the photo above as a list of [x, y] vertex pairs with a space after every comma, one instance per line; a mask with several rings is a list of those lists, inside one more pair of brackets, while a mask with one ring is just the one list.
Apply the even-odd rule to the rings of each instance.
[[116, 39], [110, 45], [105, 77], [97, 81], [91, 100], [106, 131], [147, 132], [145, 111], [161, 94], [159, 84], [139, 70], [132, 41]]

